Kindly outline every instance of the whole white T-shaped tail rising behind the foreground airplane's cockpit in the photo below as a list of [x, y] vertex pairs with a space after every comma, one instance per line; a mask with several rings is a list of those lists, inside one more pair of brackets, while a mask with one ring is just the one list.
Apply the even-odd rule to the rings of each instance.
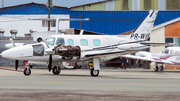
[[59, 21], [89, 21], [89, 18], [86, 19], [61, 19], [61, 18], [29, 18], [28, 20], [46, 20], [46, 21], [56, 21], [56, 34], [59, 32]]

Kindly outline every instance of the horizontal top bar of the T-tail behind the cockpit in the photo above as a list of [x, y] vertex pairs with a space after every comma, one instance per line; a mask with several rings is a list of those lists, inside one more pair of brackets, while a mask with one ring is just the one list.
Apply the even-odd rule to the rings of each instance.
[[61, 19], [61, 18], [57, 18], [57, 19], [54, 19], [54, 18], [29, 18], [28, 20], [47, 20], [47, 21], [89, 21], [90, 19], [89, 18], [86, 18], [86, 19]]

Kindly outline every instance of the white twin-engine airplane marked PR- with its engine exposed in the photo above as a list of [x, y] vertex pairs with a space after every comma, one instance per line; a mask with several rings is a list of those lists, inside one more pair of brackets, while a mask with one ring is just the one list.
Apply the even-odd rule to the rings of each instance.
[[[135, 31], [127, 36], [57, 34], [47, 37], [44, 42], [10, 48], [2, 52], [2, 57], [13, 60], [49, 62], [49, 71], [52, 69], [54, 74], [59, 74], [61, 71], [58, 63], [62, 66], [62, 62], [65, 61], [90, 61], [94, 66], [90, 68], [91, 76], [98, 76], [100, 61], [136, 53], [149, 48], [149, 45], [172, 45], [145, 41], [150, 38], [157, 13], [158, 11], [150, 10]], [[24, 69], [24, 74], [31, 74], [29, 67]]]

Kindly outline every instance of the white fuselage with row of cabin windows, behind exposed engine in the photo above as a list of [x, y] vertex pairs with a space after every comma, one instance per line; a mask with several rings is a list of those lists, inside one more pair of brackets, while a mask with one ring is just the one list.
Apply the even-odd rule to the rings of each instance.
[[[80, 46], [81, 58], [80, 60], [86, 60], [87, 53], [108, 53], [114, 52], [116, 55], [102, 55], [99, 58], [105, 58], [111, 56], [111, 58], [118, 57], [121, 54], [135, 53], [139, 50], [148, 48], [148, 46], [137, 43], [137, 40], [130, 40], [128, 38], [121, 38], [118, 36], [108, 35], [53, 35], [47, 37], [49, 47], [57, 46], [58, 44]], [[38, 45], [42, 45], [42, 49], [38, 49]], [[37, 46], [37, 47], [36, 47]], [[29, 61], [45, 61], [49, 60], [49, 54], [45, 52], [48, 46], [44, 42], [29, 44], [19, 47], [8, 49], [2, 53], [4, 58], [13, 60], [29, 60]], [[35, 54], [36, 52], [40, 54]], [[122, 53], [118, 53], [122, 51]], [[67, 61], [63, 60], [59, 55], [53, 55], [53, 61]]]

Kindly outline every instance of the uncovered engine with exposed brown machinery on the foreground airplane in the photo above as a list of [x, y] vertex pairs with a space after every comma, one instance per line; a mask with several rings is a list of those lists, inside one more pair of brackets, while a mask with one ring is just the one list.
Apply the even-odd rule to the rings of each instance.
[[81, 49], [79, 46], [60, 46], [55, 49], [55, 54], [63, 56], [64, 59], [77, 59], [81, 56]]

